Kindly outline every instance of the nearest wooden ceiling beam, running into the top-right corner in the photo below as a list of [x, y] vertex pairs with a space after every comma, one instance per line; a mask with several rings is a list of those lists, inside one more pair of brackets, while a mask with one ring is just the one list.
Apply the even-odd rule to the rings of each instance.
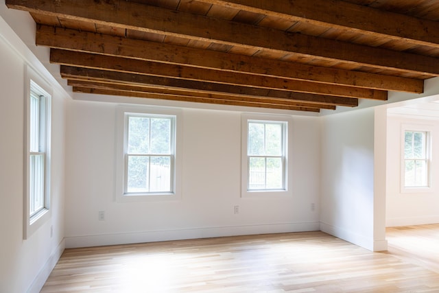
[[[268, 16], [340, 28], [369, 36], [438, 47], [439, 22], [340, 0], [198, 0]], [[407, 30], [407, 27], [410, 27]]]

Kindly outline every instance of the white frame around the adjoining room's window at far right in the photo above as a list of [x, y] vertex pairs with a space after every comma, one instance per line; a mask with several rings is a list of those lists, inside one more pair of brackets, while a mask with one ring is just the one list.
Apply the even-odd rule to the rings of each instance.
[[[406, 187], [405, 186], [405, 132], [425, 132], [426, 133], [426, 156], [427, 156], [427, 186], [425, 187]], [[431, 145], [433, 141], [433, 126], [427, 124], [402, 124], [401, 126], [401, 193], [414, 194], [433, 192], [433, 180], [431, 180]]]

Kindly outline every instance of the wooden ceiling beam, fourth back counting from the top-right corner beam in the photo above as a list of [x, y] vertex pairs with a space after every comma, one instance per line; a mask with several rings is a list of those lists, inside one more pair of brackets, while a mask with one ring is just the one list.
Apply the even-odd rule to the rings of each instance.
[[[67, 54], [68, 53], [68, 54]], [[88, 54], [77, 51], [51, 49], [50, 61], [60, 65], [73, 65], [93, 69], [138, 73], [152, 76], [177, 78], [181, 80], [205, 80], [217, 83], [217, 86], [239, 85], [250, 88], [295, 91], [299, 93], [316, 93], [341, 97], [359, 97], [364, 99], [387, 99], [387, 92], [355, 88], [353, 86], [335, 86], [332, 84], [316, 84], [307, 81], [285, 80], [261, 75], [230, 73], [181, 65], [169, 65], [157, 62]], [[189, 87], [185, 86], [185, 87]]]

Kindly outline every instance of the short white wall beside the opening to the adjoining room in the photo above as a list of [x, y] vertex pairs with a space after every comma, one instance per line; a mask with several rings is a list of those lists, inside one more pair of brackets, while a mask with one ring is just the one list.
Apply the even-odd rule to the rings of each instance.
[[322, 117], [320, 229], [376, 250], [373, 108]]

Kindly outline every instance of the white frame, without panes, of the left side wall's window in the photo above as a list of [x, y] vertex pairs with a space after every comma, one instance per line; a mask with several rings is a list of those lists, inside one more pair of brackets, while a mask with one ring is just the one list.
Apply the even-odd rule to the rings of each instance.
[[[31, 93], [35, 93], [41, 98], [40, 101], [40, 124], [38, 127], [38, 133], [40, 135], [38, 139], [38, 144], [40, 144], [40, 149], [38, 152], [31, 152], [30, 149], [30, 133], [31, 133], [31, 121], [30, 121], [30, 101]], [[24, 170], [25, 170], [25, 193], [24, 193], [24, 204], [23, 204], [23, 215], [24, 215], [24, 225], [23, 225], [23, 238], [28, 239], [40, 226], [47, 222], [51, 218], [51, 194], [50, 194], [50, 169], [51, 169], [51, 88], [49, 85], [34, 73], [31, 69], [27, 69], [27, 75], [25, 78], [25, 159], [24, 159]], [[31, 187], [32, 178], [30, 176], [31, 163], [30, 158], [32, 155], [42, 154], [44, 156], [44, 171], [43, 171], [43, 208], [39, 209], [36, 213], [31, 215], [32, 209], [32, 199], [31, 199]]]

